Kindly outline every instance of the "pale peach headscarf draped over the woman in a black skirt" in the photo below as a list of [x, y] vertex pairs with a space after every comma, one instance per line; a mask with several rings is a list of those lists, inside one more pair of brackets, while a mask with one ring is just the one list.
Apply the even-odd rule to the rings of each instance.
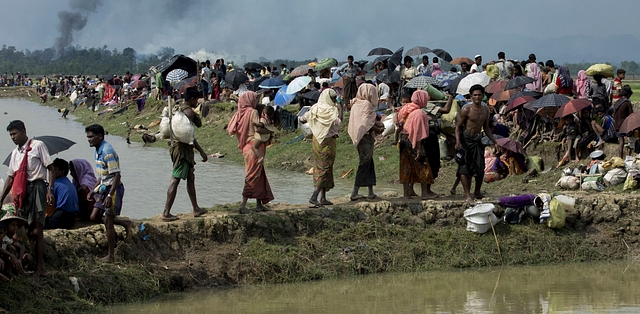
[[351, 115], [349, 116], [349, 136], [353, 145], [358, 145], [362, 137], [371, 130], [376, 122], [374, 108], [378, 105], [378, 91], [376, 87], [364, 83], [358, 88], [356, 97], [351, 101]]

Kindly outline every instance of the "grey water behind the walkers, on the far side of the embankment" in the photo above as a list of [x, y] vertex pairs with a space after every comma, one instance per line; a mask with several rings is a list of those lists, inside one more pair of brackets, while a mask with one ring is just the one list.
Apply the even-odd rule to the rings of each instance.
[[[0, 112], [6, 112], [0, 114], [0, 126], [3, 130], [9, 121], [20, 119], [27, 126], [29, 136], [57, 135], [77, 143], [54, 158], [84, 158], [93, 164], [94, 149], [87, 143], [84, 127], [73, 121], [73, 117], [62, 119], [56, 109], [24, 99], [0, 99]], [[106, 140], [120, 156], [122, 180], [126, 187], [122, 214], [132, 218], [148, 218], [161, 213], [172, 169], [168, 149], [144, 147], [142, 143], [127, 144], [123, 138], [116, 136], [107, 136]], [[0, 134], [2, 160], [14, 147], [8, 133]], [[0, 177], [6, 177], [6, 169], [6, 166], [0, 167]], [[276, 198], [274, 202], [305, 204], [313, 190], [312, 179], [305, 174], [267, 169], [267, 176]], [[196, 165], [196, 190], [200, 206], [239, 202], [243, 184], [242, 165], [228, 162], [224, 158], [212, 158]], [[337, 180], [336, 188], [329, 193], [329, 197], [348, 194], [351, 184], [352, 180]], [[182, 182], [172, 213], [190, 211], [186, 182]]]

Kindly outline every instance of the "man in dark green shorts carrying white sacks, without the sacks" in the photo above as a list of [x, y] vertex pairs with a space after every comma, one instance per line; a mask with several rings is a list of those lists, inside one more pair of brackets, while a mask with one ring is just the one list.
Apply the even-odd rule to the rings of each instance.
[[[182, 106], [182, 112], [189, 118], [189, 121], [196, 127], [202, 126], [200, 117], [193, 111], [198, 105], [198, 96], [200, 92], [195, 87], [188, 88], [185, 91], [185, 104]], [[180, 180], [187, 180], [187, 194], [191, 200], [191, 206], [193, 207], [193, 216], [200, 217], [207, 213], [206, 209], [198, 206], [198, 200], [196, 199], [196, 176], [194, 174], [194, 166], [196, 164], [193, 149], [196, 149], [202, 157], [202, 162], [207, 161], [207, 154], [202, 147], [198, 144], [198, 141], [193, 139], [193, 145], [173, 140], [169, 152], [171, 153], [171, 161], [173, 162], [173, 172], [171, 173], [171, 182], [169, 183], [169, 189], [167, 190], [167, 201], [164, 205], [164, 212], [162, 213], [163, 221], [178, 220], [177, 216], [171, 214], [171, 207], [176, 200], [176, 194], [178, 193], [178, 184]]]

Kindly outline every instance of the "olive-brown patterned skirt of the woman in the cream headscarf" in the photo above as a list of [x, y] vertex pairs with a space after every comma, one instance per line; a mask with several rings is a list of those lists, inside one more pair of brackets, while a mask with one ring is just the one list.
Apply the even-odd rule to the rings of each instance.
[[336, 160], [336, 138], [327, 137], [318, 143], [313, 137], [313, 186], [329, 191], [334, 187], [333, 183], [333, 162]]

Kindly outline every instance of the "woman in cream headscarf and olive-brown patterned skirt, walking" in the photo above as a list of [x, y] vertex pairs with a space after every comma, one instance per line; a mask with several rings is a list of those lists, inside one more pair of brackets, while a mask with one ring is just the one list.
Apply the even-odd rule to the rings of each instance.
[[[333, 205], [327, 200], [327, 191], [334, 187], [333, 162], [336, 159], [336, 138], [342, 124], [342, 112], [336, 105], [338, 94], [333, 89], [326, 89], [320, 94], [318, 103], [301, 117], [300, 122], [309, 123], [313, 133], [313, 186], [314, 191], [309, 199], [312, 207]], [[318, 195], [320, 201], [318, 202]]]

